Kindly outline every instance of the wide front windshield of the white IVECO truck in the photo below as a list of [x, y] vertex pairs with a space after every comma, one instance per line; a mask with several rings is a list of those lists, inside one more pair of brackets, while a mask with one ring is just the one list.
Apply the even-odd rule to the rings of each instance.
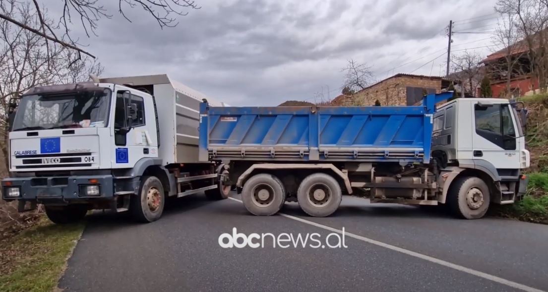
[[110, 93], [110, 89], [105, 89], [23, 96], [15, 114], [13, 131], [106, 127]]

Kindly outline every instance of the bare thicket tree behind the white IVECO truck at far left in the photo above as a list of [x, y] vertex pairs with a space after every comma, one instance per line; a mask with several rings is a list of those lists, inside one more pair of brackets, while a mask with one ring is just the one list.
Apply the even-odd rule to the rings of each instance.
[[[41, 21], [48, 25], [53, 23], [47, 16], [39, 16], [28, 2], [12, 4], [2, 3], [0, 13], [18, 18], [31, 27], [38, 26]], [[87, 56], [75, 61], [75, 54], [61, 44], [47, 45], [47, 41], [36, 33], [0, 20], [0, 150], [4, 158], [8, 157], [5, 139], [10, 100], [17, 101], [21, 94], [35, 86], [85, 81], [89, 78], [88, 73], [99, 75], [102, 72], [99, 62]]]

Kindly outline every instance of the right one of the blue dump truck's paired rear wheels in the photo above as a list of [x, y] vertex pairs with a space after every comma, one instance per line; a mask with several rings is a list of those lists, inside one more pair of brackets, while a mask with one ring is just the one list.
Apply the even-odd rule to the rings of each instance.
[[297, 201], [306, 214], [326, 217], [339, 208], [343, 192], [333, 176], [315, 173], [301, 181], [297, 190]]

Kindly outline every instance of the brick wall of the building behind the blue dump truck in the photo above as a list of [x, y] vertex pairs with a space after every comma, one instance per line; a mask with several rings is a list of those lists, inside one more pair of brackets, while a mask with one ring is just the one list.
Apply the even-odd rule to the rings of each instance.
[[407, 105], [407, 87], [432, 88], [441, 92], [441, 80], [421, 77], [394, 77], [385, 79], [355, 94], [363, 106], [372, 106], [379, 100], [382, 106]]

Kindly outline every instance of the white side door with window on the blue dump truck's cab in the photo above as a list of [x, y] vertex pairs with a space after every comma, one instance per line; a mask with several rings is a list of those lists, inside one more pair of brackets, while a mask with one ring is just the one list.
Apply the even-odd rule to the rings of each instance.
[[473, 106], [473, 159], [483, 159], [497, 169], [516, 169], [520, 156], [510, 105], [478, 102]]

